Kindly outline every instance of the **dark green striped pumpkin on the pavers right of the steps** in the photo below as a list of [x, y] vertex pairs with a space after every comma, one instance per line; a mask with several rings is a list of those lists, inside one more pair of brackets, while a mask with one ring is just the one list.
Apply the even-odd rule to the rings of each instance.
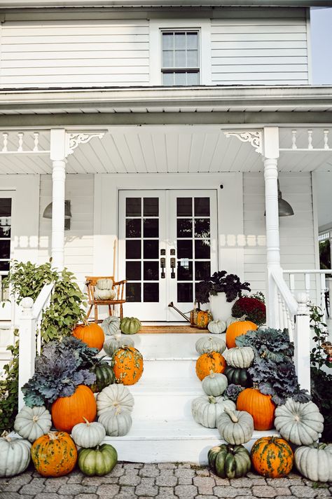
[[251, 469], [250, 454], [243, 445], [212, 447], [207, 459], [212, 471], [221, 478], [244, 477]]

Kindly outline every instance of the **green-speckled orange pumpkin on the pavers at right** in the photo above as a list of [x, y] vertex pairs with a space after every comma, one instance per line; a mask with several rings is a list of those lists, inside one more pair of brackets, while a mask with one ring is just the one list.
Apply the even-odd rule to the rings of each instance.
[[293, 467], [293, 460], [291, 446], [279, 437], [262, 437], [251, 449], [251, 462], [263, 477], [286, 477]]

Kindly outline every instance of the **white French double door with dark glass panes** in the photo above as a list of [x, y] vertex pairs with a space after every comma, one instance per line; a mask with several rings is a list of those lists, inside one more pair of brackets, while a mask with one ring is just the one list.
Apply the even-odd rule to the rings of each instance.
[[119, 192], [119, 276], [127, 279], [125, 315], [182, 321], [195, 285], [217, 270], [214, 190]]

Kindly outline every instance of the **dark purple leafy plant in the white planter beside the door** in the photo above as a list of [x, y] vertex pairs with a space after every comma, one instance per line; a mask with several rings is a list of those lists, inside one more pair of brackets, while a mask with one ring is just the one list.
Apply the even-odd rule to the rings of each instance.
[[219, 271], [210, 278], [198, 282], [195, 298], [199, 303], [207, 303], [210, 294], [216, 296], [217, 293], [224, 292], [226, 301], [234, 301], [242, 296], [244, 290], [250, 291], [249, 282], [241, 282], [237, 275], [227, 275], [226, 271]]

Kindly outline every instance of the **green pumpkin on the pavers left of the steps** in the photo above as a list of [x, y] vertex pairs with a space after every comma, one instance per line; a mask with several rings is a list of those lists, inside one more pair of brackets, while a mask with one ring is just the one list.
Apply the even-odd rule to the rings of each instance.
[[95, 449], [81, 449], [78, 453], [78, 467], [88, 477], [103, 477], [118, 463], [118, 453], [113, 446], [103, 444]]

